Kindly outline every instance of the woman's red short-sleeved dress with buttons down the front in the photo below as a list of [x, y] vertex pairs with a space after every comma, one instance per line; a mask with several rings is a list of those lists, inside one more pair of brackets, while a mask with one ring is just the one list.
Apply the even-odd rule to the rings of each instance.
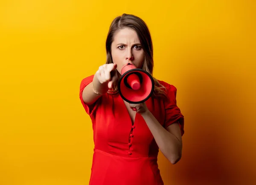
[[[94, 153], [89, 185], [163, 185], [157, 165], [158, 146], [143, 117], [136, 113], [134, 124], [121, 96], [106, 93], [88, 107], [82, 92], [93, 75], [84, 78], [80, 100], [93, 124]], [[164, 81], [169, 101], [149, 98], [148, 110], [163, 127], [179, 122], [184, 133], [184, 119], [176, 104], [176, 88]]]

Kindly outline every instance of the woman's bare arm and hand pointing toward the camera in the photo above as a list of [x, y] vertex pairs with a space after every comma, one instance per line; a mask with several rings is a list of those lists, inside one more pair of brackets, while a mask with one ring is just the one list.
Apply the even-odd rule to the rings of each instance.
[[84, 103], [94, 104], [99, 97], [112, 88], [113, 83], [117, 80], [116, 64], [104, 64], [99, 66], [98, 71], [93, 77], [93, 81], [88, 84], [82, 93]]

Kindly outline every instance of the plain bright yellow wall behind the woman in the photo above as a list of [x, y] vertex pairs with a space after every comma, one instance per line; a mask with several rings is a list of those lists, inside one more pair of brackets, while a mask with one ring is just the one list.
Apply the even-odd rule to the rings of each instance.
[[86, 185], [93, 135], [82, 78], [105, 62], [108, 26], [136, 14], [154, 76], [177, 87], [183, 157], [166, 185], [256, 184], [253, 0], [1, 0], [0, 185]]

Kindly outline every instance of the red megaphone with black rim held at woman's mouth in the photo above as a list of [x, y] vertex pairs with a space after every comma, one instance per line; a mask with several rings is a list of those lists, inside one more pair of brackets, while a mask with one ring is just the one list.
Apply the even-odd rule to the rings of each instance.
[[154, 79], [147, 71], [127, 63], [122, 66], [118, 90], [122, 99], [128, 103], [140, 104], [154, 92]]

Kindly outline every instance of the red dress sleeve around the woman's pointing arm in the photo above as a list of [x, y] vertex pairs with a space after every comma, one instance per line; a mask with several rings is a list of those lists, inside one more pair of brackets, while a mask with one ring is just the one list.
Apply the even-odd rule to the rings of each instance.
[[84, 100], [83, 100], [83, 90], [84, 88], [90, 84], [92, 81], [93, 81], [93, 76], [94, 75], [91, 75], [91, 76], [88, 76], [87, 78], [84, 78], [82, 81], [81, 81], [81, 84], [80, 84], [80, 93], [79, 93], [79, 97], [80, 97], [80, 100], [81, 100], [81, 103], [84, 107], [84, 110], [86, 111], [86, 113], [89, 115], [89, 116], [92, 116], [93, 113], [95, 112], [98, 104], [99, 104], [99, 101], [97, 100], [94, 104], [92, 105], [88, 105], [86, 103], [84, 103]]

